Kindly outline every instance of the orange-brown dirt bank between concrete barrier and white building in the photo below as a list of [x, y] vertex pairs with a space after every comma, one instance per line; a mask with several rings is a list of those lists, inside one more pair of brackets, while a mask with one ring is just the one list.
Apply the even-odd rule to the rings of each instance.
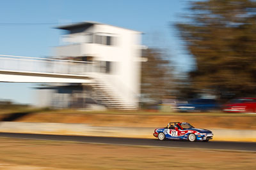
[[2, 111], [0, 121], [77, 123], [111, 127], [164, 127], [168, 122], [189, 122], [195, 127], [205, 129], [256, 129], [256, 115], [236, 113], [116, 113], [115, 111], [100, 113], [77, 110], [4, 113]]

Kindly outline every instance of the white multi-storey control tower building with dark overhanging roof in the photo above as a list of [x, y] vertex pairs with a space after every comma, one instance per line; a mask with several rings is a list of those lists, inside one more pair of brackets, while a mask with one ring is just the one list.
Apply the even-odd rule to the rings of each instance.
[[84, 105], [90, 98], [106, 108], [138, 108], [141, 32], [97, 22], [81, 22], [57, 29], [64, 30], [65, 34], [60, 38], [61, 46], [53, 49], [54, 58], [88, 62], [84, 63], [83, 70], [84, 74], [90, 74], [92, 83], [78, 84], [82, 90], [76, 87], [67, 94], [60, 89], [70, 89], [70, 84], [54, 85], [55, 92], [51, 94], [54, 106], [62, 103], [61, 107], [68, 107], [74, 100]]

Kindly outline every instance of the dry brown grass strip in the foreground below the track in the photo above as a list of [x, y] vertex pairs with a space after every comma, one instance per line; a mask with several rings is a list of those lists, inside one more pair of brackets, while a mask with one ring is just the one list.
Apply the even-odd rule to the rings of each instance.
[[0, 138], [0, 169], [254, 169], [255, 152]]

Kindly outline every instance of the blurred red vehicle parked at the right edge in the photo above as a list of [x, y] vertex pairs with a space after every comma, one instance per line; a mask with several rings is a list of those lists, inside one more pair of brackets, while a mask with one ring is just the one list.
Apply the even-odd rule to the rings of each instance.
[[223, 105], [222, 110], [230, 113], [255, 113], [256, 98], [232, 99], [229, 103]]

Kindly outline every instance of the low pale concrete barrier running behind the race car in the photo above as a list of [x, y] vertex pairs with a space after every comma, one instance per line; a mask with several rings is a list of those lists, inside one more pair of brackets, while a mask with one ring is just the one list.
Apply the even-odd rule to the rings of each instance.
[[[93, 127], [88, 124], [1, 122], [0, 132], [31, 134], [62, 134], [81, 136], [111, 136], [125, 138], [154, 138], [154, 127]], [[214, 140], [256, 141], [255, 130], [209, 129]]]

